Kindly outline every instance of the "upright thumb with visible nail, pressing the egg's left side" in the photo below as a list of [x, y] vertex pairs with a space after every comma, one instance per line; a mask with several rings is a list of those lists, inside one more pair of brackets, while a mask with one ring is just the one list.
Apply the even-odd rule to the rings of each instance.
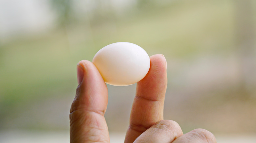
[[94, 64], [77, 64], [78, 87], [70, 109], [70, 142], [110, 142], [104, 114], [108, 89]]

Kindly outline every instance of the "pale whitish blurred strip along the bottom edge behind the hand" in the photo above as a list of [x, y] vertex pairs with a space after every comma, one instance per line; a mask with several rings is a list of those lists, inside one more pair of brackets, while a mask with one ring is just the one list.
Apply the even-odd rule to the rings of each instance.
[[[110, 133], [111, 143], [124, 142], [125, 133]], [[217, 143], [255, 143], [255, 134], [215, 135]], [[1, 143], [69, 143], [69, 132], [0, 132]]]

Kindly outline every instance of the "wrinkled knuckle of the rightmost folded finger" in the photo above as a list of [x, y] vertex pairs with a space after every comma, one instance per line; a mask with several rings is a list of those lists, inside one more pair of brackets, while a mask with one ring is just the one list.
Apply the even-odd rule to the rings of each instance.
[[193, 135], [197, 136], [203, 141], [207, 141], [208, 143], [216, 142], [215, 136], [211, 132], [205, 129], [195, 129], [195, 130], [192, 130], [192, 133]]

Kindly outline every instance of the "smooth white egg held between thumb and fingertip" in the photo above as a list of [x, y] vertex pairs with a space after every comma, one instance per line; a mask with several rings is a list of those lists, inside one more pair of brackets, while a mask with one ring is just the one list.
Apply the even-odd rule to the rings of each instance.
[[147, 52], [129, 42], [117, 42], [100, 49], [93, 64], [107, 84], [127, 86], [139, 82], [150, 67]]

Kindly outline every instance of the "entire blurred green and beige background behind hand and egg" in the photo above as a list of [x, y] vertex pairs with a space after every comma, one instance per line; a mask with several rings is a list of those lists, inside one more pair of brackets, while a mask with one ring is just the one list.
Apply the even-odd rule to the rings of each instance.
[[[76, 64], [120, 41], [165, 56], [164, 118], [183, 133], [256, 142], [256, 1], [0, 0], [1, 142], [69, 142]], [[112, 142], [135, 87], [108, 85]]]

